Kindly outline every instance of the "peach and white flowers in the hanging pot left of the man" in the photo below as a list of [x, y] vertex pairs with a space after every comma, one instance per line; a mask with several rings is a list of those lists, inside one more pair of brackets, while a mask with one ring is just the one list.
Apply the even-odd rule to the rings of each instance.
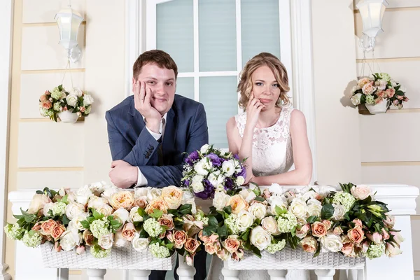
[[[39, 113], [57, 122], [57, 117], [64, 119], [63, 114], [73, 113], [73, 120], [89, 115], [93, 103], [92, 95], [73, 87], [66, 90], [62, 85], [54, 87], [52, 92], [45, 91], [39, 97]], [[69, 118], [65, 118], [67, 120]], [[62, 120], [64, 121], [64, 120]], [[71, 121], [73, 122], [73, 121]]]

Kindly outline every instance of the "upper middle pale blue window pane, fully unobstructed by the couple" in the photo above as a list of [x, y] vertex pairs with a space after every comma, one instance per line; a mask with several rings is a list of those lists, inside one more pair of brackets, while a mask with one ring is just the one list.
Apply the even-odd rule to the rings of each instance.
[[235, 71], [235, 0], [199, 0], [200, 71]]

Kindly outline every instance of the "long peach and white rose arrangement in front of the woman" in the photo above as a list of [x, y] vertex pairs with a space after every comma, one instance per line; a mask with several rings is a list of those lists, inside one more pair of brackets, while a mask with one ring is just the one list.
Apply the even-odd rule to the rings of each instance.
[[[252, 185], [251, 185], [252, 186]], [[218, 192], [209, 225], [200, 232], [207, 253], [222, 260], [240, 260], [244, 251], [260, 256], [289, 244], [314, 253], [337, 252], [348, 257], [379, 258], [402, 253], [403, 238], [393, 229], [386, 204], [374, 200], [367, 186], [340, 184], [283, 192], [273, 184], [261, 192]]]

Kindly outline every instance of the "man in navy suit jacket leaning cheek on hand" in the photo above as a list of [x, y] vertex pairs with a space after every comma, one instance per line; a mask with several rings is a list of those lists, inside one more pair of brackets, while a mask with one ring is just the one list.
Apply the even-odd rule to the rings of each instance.
[[[119, 188], [179, 186], [183, 153], [209, 142], [204, 106], [175, 94], [177, 76], [166, 52], [144, 52], [133, 66], [134, 95], [106, 112], [113, 159], [109, 176]], [[195, 280], [206, 277], [206, 256], [204, 250], [195, 255]], [[149, 279], [165, 279], [165, 274], [153, 271]]]

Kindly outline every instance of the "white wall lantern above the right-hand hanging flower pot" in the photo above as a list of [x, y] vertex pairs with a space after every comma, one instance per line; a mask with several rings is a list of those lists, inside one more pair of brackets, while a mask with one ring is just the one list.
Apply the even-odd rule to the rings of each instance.
[[383, 32], [382, 18], [388, 3], [385, 0], [360, 0], [356, 7], [360, 11], [363, 21], [363, 36], [359, 45], [364, 52], [374, 49], [375, 37]]

